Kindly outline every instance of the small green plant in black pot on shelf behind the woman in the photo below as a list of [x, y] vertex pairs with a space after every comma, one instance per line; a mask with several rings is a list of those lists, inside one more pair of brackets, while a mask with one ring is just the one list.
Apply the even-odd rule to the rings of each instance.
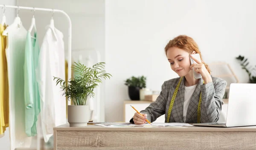
[[145, 76], [131, 76], [125, 80], [125, 85], [128, 86], [128, 94], [131, 100], [140, 100], [140, 89], [146, 88]]

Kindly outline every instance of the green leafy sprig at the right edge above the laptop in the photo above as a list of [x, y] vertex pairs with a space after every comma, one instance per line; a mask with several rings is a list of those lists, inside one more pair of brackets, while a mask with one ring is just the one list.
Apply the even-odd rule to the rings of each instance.
[[250, 83], [256, 83], [256, 76], [254, 76], [256, 74], [256, 66], [249, 65], [248, 59], [244, 58], [244, 56], [239, 55], [236, 59], [239, 60], [242, 69], [249, 75]]

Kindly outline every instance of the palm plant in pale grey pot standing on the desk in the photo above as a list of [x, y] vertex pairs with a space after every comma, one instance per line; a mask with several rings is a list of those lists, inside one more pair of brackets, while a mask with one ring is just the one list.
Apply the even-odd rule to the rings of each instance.
[[105, 62], [99, 62], [90, 68], [75, 62], [71, 67], [74, 77], [67, 84], [65, 80], [54, 77], [56, 85], [61, 85], [62, 95], [66, 96], [69, 101], [72, 100], [74, 104], [68, 105], [67, 108], [67, 121], [70, 123], [70, 127], [87, 126], [89, 106], [86, 105], [86, 101], [88, 98], [94, 97], [93, 90], [102, 82], [102, 78], [110, 79], [111, 77], [111, 74], [103, 70], [104, 64]]

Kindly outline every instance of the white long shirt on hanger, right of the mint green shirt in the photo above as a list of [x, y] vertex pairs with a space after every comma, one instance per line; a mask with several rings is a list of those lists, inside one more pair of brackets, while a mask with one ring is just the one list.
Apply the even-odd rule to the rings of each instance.
[[66, 99], [62, 96], [61, 86], [56, 86], [56, 80], [53, 81], [53, 76], [65, 79], [64, 55], [63, 34], [51, 24], [47, 26], [36, 69], [45, 142], [52, 136], [53, 127], [67, 122]]

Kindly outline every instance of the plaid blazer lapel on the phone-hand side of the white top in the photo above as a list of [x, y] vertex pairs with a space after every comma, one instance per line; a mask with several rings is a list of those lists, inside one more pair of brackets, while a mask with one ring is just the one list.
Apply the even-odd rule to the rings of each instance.
[[[186, 122], [191, 122], [192, 116], [195, 114], [195, 112], [198, 110], [198, 103], [200, 99], [200, 93], [201, 93], [201, 85], [203, 84], [203, 79], [201, 78], [195, 88], [194, 93], [191, 96], [189, 107], [186, 114]], [[197, 117], [197, 115], [196, 115]]]

